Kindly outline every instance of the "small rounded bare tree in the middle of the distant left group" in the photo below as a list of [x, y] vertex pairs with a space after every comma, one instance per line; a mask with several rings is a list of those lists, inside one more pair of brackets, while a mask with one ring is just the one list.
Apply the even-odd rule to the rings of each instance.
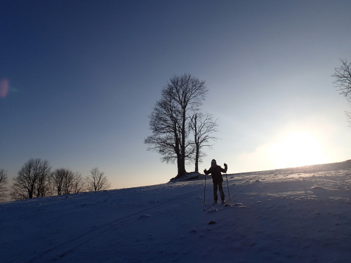
[[51, 192], [55, 195], [72, 194], [74, 189], [74, 173], [67, 168], [59, 168], [49, 178]]

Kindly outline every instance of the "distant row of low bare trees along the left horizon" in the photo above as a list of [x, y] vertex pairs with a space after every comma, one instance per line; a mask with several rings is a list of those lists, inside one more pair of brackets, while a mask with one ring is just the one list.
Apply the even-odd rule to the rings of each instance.
[[51, 171], [47, 160], [29, 159], [13, 178], [13, 184], [7, 189], [8, 175], [0, 170], [0, 200], [4, 201], [8, 191], [15, 200], [34, 197], [76, 194], [82, 191], [101, 191], [109, 189], [111, 184], [105, 173], [98, 168], [91, 169], [91, 174], [82, 177], [67, 168]]

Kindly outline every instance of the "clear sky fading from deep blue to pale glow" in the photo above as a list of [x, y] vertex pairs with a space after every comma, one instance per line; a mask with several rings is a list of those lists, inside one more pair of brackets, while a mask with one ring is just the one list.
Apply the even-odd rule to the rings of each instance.
[[[146, 151], [148, 115], [173, 76], [206, 81], [211, 159], [228, 173], [351, 159], [351, 1], [1, 1], [0, 168], [30, 158], [112, 188], [168, 182]], [[187, 166], [188, 171], [194, 166]]]

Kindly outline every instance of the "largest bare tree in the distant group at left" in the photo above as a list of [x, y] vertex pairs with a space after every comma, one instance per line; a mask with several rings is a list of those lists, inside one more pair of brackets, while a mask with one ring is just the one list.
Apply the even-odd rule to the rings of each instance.
[[13, 179], [11, 196], [15, 200], [46, 196], [50, 171], [48, 161], [29, 159]]

